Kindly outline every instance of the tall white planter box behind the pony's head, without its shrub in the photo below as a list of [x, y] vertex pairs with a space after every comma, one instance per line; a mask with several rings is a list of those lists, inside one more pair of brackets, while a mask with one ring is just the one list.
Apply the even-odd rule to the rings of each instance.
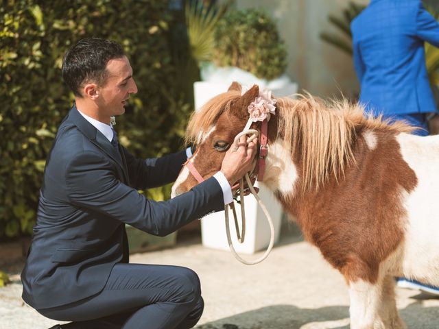
[[[199, 110], [201, 106], [209, 101], [212, 97], [219, 93], [224, 93], [230, 86], [230, 83], [224, 82], [195, 82], [194, 97], [195, 97], [195, 109]], [[292, 96], [297, 93], [297, 84], [286, 84], [282, 88], [270, 88], [272, 93], [276, 97]], [[259, 197], [267, 207], [274, 224], [274, 243], [279, 239], [281, 231], [281, 219], [282, 219], [282, 206], [274, 197], [272, 192], [265, 188], [265, 186], [259, 186]], [[239, 225], [241, 225], [241, 206], [235, 203], [237, 210]], [[261, 249], [268, 247], [270, 243], [270, 226], [265, 218], [263, 210], [258, 206], [256, 199], [252, 195], [249, 195], [245, 199], [246, 210], [246, 236], [244, 243], [237, 241], [235, 231], [235, 221], [233, 220], [233, 213], [229, 210], [229, 222], [230, 222], [230, 235], [232, 236], [233, 246], [238, 253], [253, 254]], [[211, 215], [203, 217], [201, 220], [201, 234], [202, 244], [205, 247], [214, 249], [228, 250], [226, 236], [226, 225], [224, 219], [224, 211], [215, 212]]]

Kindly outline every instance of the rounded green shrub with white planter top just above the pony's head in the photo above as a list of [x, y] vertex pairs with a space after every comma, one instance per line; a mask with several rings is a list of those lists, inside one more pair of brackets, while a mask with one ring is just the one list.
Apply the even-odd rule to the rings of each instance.
[[297, 84], [285, 72], [287, 52], [276, 23], [263, 9], [228, 10], [213, 30], [209, 61], [200, 61], [194, 84], [195, 109], [227, 90], [233, 81], [258, 84], [278, 97], [294, 95]]

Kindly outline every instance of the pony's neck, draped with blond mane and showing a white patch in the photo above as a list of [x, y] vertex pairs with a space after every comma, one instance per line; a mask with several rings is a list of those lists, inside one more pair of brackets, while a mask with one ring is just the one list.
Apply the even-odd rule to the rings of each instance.
[[278, 99], [263, 183], [278, 197], [318, 189], [351, 162], [355, 124], [312, 98]]

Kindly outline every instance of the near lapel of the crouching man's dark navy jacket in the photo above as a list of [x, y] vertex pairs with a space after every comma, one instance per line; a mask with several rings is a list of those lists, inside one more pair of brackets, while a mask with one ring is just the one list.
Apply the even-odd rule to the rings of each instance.
[[110, 141], [96, 129], [91, 123], [89, 123], [80, 112], [75, 105], [71, 108], [69, 112], [69, 118], [75, 123], [78, 129], [84, 134], [91, 143], [95, 144], [99, 149], [102, 149], [112, 160], [119, 165], [119, 169], [121, 169], [120, 177], [122, 178], [122, 182], [128, 184], [128, 172], [126, 170], [126, 165], [123, 164], [121, 153], [117, 147], [111, 145]]

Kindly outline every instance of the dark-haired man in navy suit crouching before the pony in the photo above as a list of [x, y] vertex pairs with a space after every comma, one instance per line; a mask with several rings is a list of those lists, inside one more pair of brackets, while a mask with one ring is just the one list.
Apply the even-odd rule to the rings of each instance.
[[46, 317], [73, 321], [55, 328], [192, 328], [203, 310], [198, 276], [128, 264], [125, 223], [165, 236], [223, 210], [230, 186], [252, 167], [255, 143], [228, 151], [221, 171], [188, 193], [145, 199], [137, 190], [174, 181], [188, 150], [141, 160], [117, 142], [110, 117], [137, 93], [121, 46], [81, 40], [64, 56], [62, 77], [75, 104], [47, 158], [23, 300]]

